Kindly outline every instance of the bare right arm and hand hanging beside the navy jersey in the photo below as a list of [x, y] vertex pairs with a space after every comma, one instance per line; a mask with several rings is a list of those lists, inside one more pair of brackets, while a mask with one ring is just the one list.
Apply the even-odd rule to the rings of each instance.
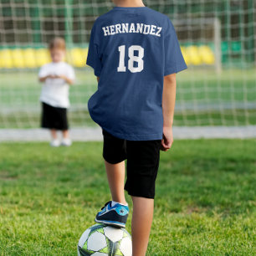
[[176, 100], [176, 74], [168, 74], [164, 77], [162, 93], [162, 114], [163, 114], [163, 139], [161, 150], [167, 151], [173, 142], [172, 123]]

